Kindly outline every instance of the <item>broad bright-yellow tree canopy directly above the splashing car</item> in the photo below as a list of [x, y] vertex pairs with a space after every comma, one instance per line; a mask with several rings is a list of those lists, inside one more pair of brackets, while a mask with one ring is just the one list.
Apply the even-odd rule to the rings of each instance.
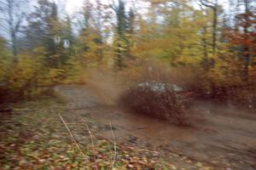
[[152, 3], [147, 16], [139, 20], [137, 54], [167, 59], [173, 66], [199, 66], [208, 55], [209, 29], [203, 27], [209, 18], [200, 10], [184, 1], [162, 1]]

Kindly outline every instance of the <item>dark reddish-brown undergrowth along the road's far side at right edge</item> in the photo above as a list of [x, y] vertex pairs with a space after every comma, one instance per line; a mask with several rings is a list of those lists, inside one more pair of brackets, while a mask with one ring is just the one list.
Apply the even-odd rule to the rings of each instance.
[[247, 83], [217, 84], [199, 81], [189, 86], [195, 99], [210, 99], [220, 104], [236, 105], [238, 108], [256, 108], [256, 85]]

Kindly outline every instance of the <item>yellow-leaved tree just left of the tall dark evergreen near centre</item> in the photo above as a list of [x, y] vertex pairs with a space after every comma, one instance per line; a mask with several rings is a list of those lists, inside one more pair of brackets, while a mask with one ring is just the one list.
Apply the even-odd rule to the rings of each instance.
[[102, 65], [109, 51], [107, 40], [112, 26], [110, 8], [101, 1], [85, 1], [81, 14], [83, 20], [79, 32], [79, 53], [84, 59], [84, 65]]

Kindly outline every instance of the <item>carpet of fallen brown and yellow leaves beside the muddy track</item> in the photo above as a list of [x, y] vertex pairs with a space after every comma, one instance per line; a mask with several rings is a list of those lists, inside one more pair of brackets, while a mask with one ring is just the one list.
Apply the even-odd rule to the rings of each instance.
[[[51, 101], [52, 102], [52, 101]], [[47, 102], [46, 102], [47, 103]], [[53, 102], [53, 105], [60, 105]], [[22, 106], [22, 105], [21, 105]], [[22, 108], [19, 106], [20, 108]], [[49, 105], [48, 105], [49, 106]], [[171, 169], [185, 170], [203, 169], [211, 170], [205, 167], [201, 162], [193, 164], [187, 157], [180, 157], [173, 154], [173, 157], [179, 159], [183, 164], [171, 164], [163, 159], [159, 151], [148, 150], [146, 148], [137, 148], [131, 144], [117, 143], [116, 161], [113, 164], [113, 141], [107, 139], [95, 139], [95, 151], [90, 144], [88, 132], [79, 127], [78, 123], [69, 123], [74, 136], [85, 138], [79, 139], [81, 150], [84, 155], [89, 157], [89, 161], [84, 161], [84, 156], [68, 139], [69, 134], [63, 128], [59, 120], [58, 111], [48, 110], [45, 105], [39, 105], [34, 102], [33, 105], [24, 105], [38, 112], [22, 111], [22, 114], [14, 114], [6, 122], [0, 125], [0, 165], [3, 170], [11, 169]], [[38, 109], [39, 108], [39, 109]], [[63, 108], [61, 106], [56, 108]], [[21, 109], [15, 109], [20, 112]], [[61, 109], [61, 111], [65, 111]], [[91, 126], [91, 124], [89, 123]], [[80, 135], [80, 136], [79, 136]], [[96, 156], [96, 157], [94, 157]], [[96, 159], [96, 162], [94, 162]], [[172, 159], [172, 158], [170, 158]]]

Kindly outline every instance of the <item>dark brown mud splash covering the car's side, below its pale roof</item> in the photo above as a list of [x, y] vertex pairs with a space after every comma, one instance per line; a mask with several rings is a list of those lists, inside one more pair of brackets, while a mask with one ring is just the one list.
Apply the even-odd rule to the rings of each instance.
[[121, 97], [122, 105], [139, 114], [154, 116], [178, 126], [188, 126], [189, 114], [172, 89], [156, 92], [150, 87], [135, 87]]

